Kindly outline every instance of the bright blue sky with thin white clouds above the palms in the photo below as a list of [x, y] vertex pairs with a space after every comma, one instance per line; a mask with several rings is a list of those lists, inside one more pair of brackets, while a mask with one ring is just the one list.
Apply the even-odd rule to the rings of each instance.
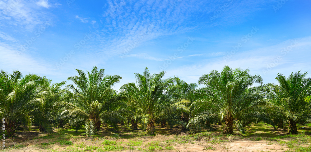
[[276, 83], [278, 73], [311, 71], [310, 7], [306, 0], [0, 0], [0, 69], [61, 82], [97, 66], [123, 77], [118, 90], [145, 67], [197, 83], [229, 65]]

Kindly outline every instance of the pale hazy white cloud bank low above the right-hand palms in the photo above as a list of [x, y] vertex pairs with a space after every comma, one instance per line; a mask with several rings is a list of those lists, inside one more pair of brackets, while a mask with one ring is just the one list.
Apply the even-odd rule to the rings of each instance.
[[[196, 64], [179, 67], [168, 67], [166, 77], [180, 76], [187, 83], [197, 83], [202, 74], [208, 74], [211, 70], [221, 71], [225, 65], [232, 68], [249, 68], [251, 74], [259, 74], [264, 83], [277, 83], [275, 77], [278, 73], [285, 76], [290, 72], [311, 72], [311, 37], [296, 39], [297, 44], [290, 50], [283, 51], [292, 43], [292, 40], [284, 41], [269, 47], [248, 50], [236, 53], [225, 61], [223, 57], [199, 61]], [[293, 40], [294, 41], [294, 40]], [[311, 73], [309, 73], [310, 76]]]

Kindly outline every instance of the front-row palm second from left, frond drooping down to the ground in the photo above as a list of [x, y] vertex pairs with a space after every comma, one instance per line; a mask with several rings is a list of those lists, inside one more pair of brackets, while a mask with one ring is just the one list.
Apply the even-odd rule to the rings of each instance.
[[81, 70], [77, 72], [78, 76], [68, 78], [74, 83], [67, 86], [72, 91], [67, 92], [70, 98], [57, 104], [64, 107], [61, 116], [70, 118], [76, 127], [85, 125], [88, 137], [100, 130], [102, 122], [125, 120], [117, 111], [123, 98], [112, 88], [120, 82], [121, 76], [104, 76], [104, 69], [98, 71], [97, 67], [87, 71], [87, 76]]

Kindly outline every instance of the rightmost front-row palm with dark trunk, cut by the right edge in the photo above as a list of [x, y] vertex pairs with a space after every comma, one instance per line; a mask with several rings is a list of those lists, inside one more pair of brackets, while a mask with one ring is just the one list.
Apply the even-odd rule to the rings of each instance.
[[308, 96], [311, 94], [311, 78], [306, 78], [307, 72], [291, 73], [288, 78], [278, 74], [271, 104], [276, 109], [274, 115], [286, 118], [289, 121], [288, 132], [297, 134], [296, 123], [301, 119], [309, 118], [311, 102]]

